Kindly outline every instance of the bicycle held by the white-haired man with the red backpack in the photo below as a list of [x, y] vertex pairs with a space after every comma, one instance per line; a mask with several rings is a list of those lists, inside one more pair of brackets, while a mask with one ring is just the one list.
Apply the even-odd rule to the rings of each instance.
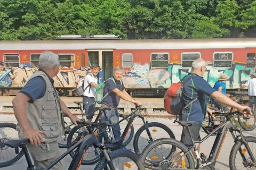
[[[252, 111], [253, 112], [253, 111]], [[255, 155], [252, 154], [252, 150], [249, 147], [248, 142], [253, 142], [256, 143], [256, 138], [255, 137], [244, 137], [242, 130], [240, 128], [238, 128], [238, 126], [236, 124], [234, 124], [231, 121], [231, 118], [239, 115], [242, 116], [242, 114], [238, 111], [235, 112], [230, 112], [227, 114], [223, 114], [221, 112], [215, 112], [215, 115], [219, 115], [219, 116], [225, 116], [226, 120], [225, 122], [223, 122], [222, 124], [220, 124], [218, 126], [218, 128], [214, 129], [213, 131], [211, 131], [210, 134], [206, 135], [206, 137], [204, 137], [201, 141], [194, 141], [190, 130], [189, 130], [189, 126], [193, 125], [193, 123], [196, 123], [194, 121], [177, 121], [177, 123], [179, 123], [182, 128], [188, 128], [189, 134], [190, 134], [190, 138], [191, 138], [191, 142], [193, 143], [193, 147], [186, 147], [183, 143], [181, 143], [180, 141], [174, 140], [174, 139], [158, 139], [156, 141], [153, 141], [152, 143], [150, 143], [142, 152], [142, 156], [141, 156], [141, 161], [142, 163], [145, 165], [146, 168], [150, 168], [150, 169], [156, 169], [155, 167], [159, 167], [160, 169], [164, 170], [164, 169], [177, 169], [178, 167], [174, 167], [177, 165], [174, 165], [175, 163], [178, 162], [178, 160], [181, 162], [182, 167], [186, 167], [186, 168], [196, 168], [196, 169], [214, 169], [214, 166], [217, 162], [218, 156], [220, 154], [220, 150], [221, 147], [223, 145], [223, 142], [225, 140], [225, 137], [227, 135], [227, 131], [229, 131], [235, 141], [235, 144], [233, 146], [233, 148], [230, 151], [230, 158], [229, 158], [229, 166], [230, 169], [236, 169], [236, 163], [235, 163], [235, 158], [236, 158], [236, 154], [239, 151], [239, 155], [242, 156], [242, 160], [243, 160], [243, 166], [246, 168], [252, 168], [252, 167], [256, 167], [256, 153]], [[255, 120], [254, 120], [254, 124], [255, 124]], [[202, 143], [204, 142], [207, 138], [209, 138], [214, 132], [217, 132], [217, 137], [215, 138], [213, 147], [211, 149], [210, 152], [210, 156], [209, 158], [206, 159], [206, 156], [201, 153], [200, 157], [198, 154], [198, 151], [196, 149], [195, 143]], [[235, 135], [234, 132], [238, 132], [239, 135]], [[239, 139], [240, 137], [240, 139]], [[178, 154], [174, 155], [174, 152], [167, 152], [167, 156], [163, 156], [163, 159], [158, 159], [159, 157], [156, 156], [154, 153], [149, 155], [149, 152], [156, 150], [156, 148], [160, 145], [172, 145], [172, 147], [175, 148], [179, 148], [181, 151], [178, 152]], [[244, 145], [245, 148], [242, 148], [241, 146]], [[164, 149], [169, 148], [169, 147], [164, 147]], [[196, 154], [196, 158], [197, 158], [197, 164], [195, 167], [195, 162], [193, 159], [193, 156], [191, 154], [191, 151], [194, 149], [195, 154]], [[160, 150], [158, 148], [158, 150]], [[161, 151], [161, 150], [160, 150]], [[181, 152], [183, 152], [184, 154], [182, 154], [181, 156]], [[249, 154], [249, 158], [245, 157], [245, 153]], [[161, 152], [163, 154], [163, 152]], [[177, 158], [178, 157], [178, 158]], [[186, 157], [186, 158], [185, 158]], [[150, 160], [147, 158], [151, 158]], [[185, 160], [182, 160], [184, 159]], [[202, 159], [201, 160], [199, 159]], [[174, 159], [174, 160], [172, 160]]]

